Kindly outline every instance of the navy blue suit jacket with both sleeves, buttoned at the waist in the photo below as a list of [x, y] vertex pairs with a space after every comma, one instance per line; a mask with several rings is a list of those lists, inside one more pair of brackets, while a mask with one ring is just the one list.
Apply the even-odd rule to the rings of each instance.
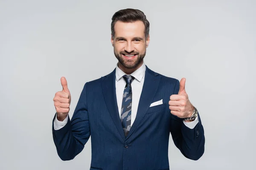
[[[171, 133], [186, 158], [199, 159], [205, 142], [200, 116], [199, 123], [190, 129], [169, 110], [169, 98], [178, 91], [177, 79], [146, 67], [137, 116], [125, 137], [116, 102], [115, 70], [85, 83], [71, 121], [68, 118], [67, 125], [59, 130], [52, 125], [58, 156], [62, 160], [74, 159], [91, 136], [90, 170], [169, 170]], [[149, 107], [160, 99], [163, 104]]]

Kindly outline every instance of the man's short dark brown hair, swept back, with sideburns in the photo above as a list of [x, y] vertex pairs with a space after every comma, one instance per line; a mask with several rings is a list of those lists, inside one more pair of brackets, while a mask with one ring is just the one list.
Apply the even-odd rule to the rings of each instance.
[[114, 26], [116, 24], [117, 21], [122, 21], [125, 23], [130, 23], [130, 22], [135, 22], [135, 21], [142, 21], [144, 23], [145, 26], [145, 37], [146, 39], [148, 38], [149, 35], [149, 22], [146, 19], [145, 14], [143, 13], [143, 11], [140, 11], [138, 9], [121, 9], [119, 11], [117, 11], [115, 14], [113, 14], [112, 17], [112, 22], [111, 22], [111, 34], [112, 37], [114, 37], [115, 35], [115, 29]]

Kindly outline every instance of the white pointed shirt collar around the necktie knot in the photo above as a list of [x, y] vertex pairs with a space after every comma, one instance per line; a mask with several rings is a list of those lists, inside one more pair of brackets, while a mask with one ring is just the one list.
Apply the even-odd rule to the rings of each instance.
[[[145, 74], [146, 66], [145, 62], [138, 68], [136, 71], [134, 71], [131, 76], [133, 76], [135, 79], [137, 79], [139, 82], [141, 82], [144, 74]], [[119, 81], [125, 74], [119, 67], [118, 63], [116, 64], [116, 80]]]

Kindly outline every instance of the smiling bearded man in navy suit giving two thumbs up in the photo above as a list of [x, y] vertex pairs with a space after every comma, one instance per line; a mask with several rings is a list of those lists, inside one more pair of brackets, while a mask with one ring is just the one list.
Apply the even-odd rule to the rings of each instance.
[[74, 159], [91, 136], [90, 170], [169, 170], [171, 133], [180, 152], [198, 160], [204, 153], [204, 128], [185, 79], [157, 74], [143, 62], [149, 44], [144, 13], [117, 11], [111, 33], [119, 62], [112, 73], [85, 83], [71, 121], [71, 95], [61, 77], [52, 124], [59, 157]]

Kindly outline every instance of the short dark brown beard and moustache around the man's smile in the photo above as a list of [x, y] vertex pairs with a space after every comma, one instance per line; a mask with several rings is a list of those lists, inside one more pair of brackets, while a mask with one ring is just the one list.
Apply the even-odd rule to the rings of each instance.
[[137, 54], [137, 59], [135, 60], [127, 60], [127, 59], [124, 59], [122, 57], [122, 54], [128, 54], [128, 52], [125, 52], [125, 51], [120, 51], [119, 53], [116, 53], [115, 52], [115, 48], [114, 48], [114, 54], [116, 56], [116, 59], [118, 59], [118, 61], [125, 67], [125, 68], [136, 68], [138, 65], [140, 65], [141, 62], [143, 62], [143, 59], [146, 55], [146, 50], [145, 50], [145, 53], [144, 54], [140, 54], [140, 53], [137, 53], [137, 52], [131, 52], [130, 54]]

